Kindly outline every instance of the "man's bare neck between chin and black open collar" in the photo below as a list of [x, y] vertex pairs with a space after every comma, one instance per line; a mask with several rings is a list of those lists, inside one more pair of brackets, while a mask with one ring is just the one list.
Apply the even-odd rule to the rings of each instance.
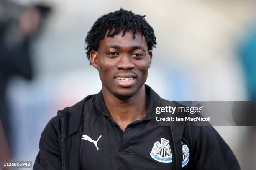
[[135, 120], [141, 120], [146, 115], [148, 96], [146, 95], [145, 85], [131, 98], [120, 100], [111, 94], [106, 88], [102, 87], [104, 102], [108, 111], [124, 131], [126, 126]]

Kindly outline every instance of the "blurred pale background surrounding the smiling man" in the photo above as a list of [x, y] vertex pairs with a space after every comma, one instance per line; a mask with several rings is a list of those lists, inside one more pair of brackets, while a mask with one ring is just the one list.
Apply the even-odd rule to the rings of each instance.
[[[120, 7], [154, 28], [146, 84], [162, 98], [256, 100], [256, 1], [0, 0], [0, 160], [33, 164], [57, 110], [100, 91], [84, 39]], [[256, 128], [215, 129], [242, 170], [255, 170]]]

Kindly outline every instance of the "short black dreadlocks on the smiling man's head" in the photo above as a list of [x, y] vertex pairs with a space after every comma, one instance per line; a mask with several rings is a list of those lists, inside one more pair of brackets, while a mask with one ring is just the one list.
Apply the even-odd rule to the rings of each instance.
[[[100, 17], [93, 25], [89, 32], [87, 32], [87, 37], [85, 38], [86, 46], [86, 56], [90, 60], [90, 52], [92, 50], [97, 51], [99, 47], [100, 40], [106, 37], [114, 37], [118, 35], [121, 30], [123, 30], [123, 35], [127, 30], [132, 30], [133, 38], [135, 38], [136, 32], [141, 32], [145, 37], [148, 50], [152, 50], [156, 47], [156, 37], [153, 28], [145, 20], [146, 15], [137, 15], [132, 11], [120, 10], [108, 13]], [[108, 32], [107, 32], [108, 30]], [[91, 63], [90, 63], [91, 65]]]

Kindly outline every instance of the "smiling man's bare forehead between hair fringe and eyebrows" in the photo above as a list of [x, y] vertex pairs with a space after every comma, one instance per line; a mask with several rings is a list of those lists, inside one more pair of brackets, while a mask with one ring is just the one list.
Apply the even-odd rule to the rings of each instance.
[[[107, 30], [108, 32], [108, 30]], [[132, 30], [127, 30], [125, 35], [123, 35], [123, 30], [121, 30], [118, 35], [114, 37], [104, 37], [103, 40], [100, 40], [100, 48], [107, 48], [109, 46], [120, 46], [120, 47], [133, 47], [133, 46], [141, 46], [147, 50], [148, 45], [145, 37], [141, 34], [141, 32], [137, 32], [135, 34], [135, 38], [133, 38]]]

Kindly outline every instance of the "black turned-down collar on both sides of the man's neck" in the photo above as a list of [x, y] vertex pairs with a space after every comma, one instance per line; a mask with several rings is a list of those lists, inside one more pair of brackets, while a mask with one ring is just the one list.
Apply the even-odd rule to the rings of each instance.
[[[145, 84], [145, 90], [146, 90], [146, 94], [148, 94], [149, 96], [149, 100], [148, 100], [146, 116], [143, 118], [143, 120], [151, 120], [151, 109], [152, 109], [153, 101], [159, 100], [160, 96], [154, 90], [152, 90], [151, 87], [149, 87], [146, 84]], [[102, 90], [100, 90], [100, 92], [95, 96], [95, 106], [97, 110], [99, 110], [102, 113], [102, 115], [110, 117], [110, 114], [108, 112], [108, 109], [103, 99]]]

